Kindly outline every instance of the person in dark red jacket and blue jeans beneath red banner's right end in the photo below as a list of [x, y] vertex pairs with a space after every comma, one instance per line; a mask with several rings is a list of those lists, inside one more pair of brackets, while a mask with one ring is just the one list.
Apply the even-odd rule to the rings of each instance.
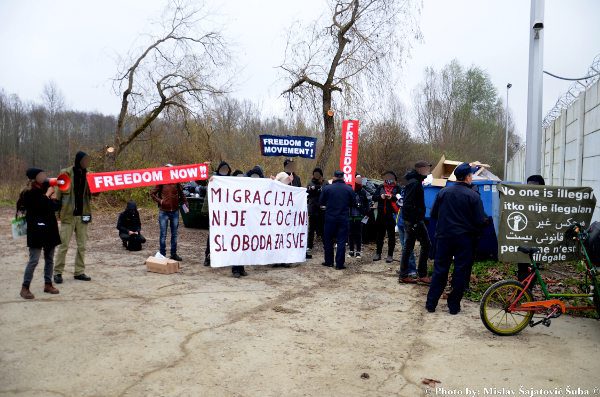
[[160, 227], [160, 254], [167, 256], [167, 225], [171, 226], [171, 256], [176, 261], [182, 261], [177, 254], [177, 229], [179, 227], [179, 206], [188, 202], [183, 194], [180, 183], [169, 183], [155, 186], [150, 191], [150, 197], [158, 204], [158, 225]]

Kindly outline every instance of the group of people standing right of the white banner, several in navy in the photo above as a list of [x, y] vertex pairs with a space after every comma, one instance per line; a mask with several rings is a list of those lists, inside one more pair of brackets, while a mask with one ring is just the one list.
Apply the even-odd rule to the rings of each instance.
[[[450, 266], [454, 261], [452, 292], [448, 295], [448, 311], [450, 314], [457, 314], [460, 312], [460, 302], [471, 276], [476, 243], [488, 222], [488, 217], [483, 211], [481, 197], [472, 186], [475, 170], [468, 163], [460, 164], [454, 171], [457, 182], [440, 191], [431, 210], [431, 219], [435, 220], [437, 225], [433, 275], [428, 277], [427, 260], [432, 244], [425, 223], [426, 207], [423, 181], [430, 171], [431, 164], [426, 161], [417, 162], [414, 169], [405, 176], [407, 184], [404, 189], [398, 185], [398, 178], [393, 171], [384, 172], [382, 175], [384, 182], [373, 195], [373, 202], [376, 203], [377, 208], [375, 218], [376, 253], [373, 261], [381, 260], [387, 235], [386, 262], [393, 262], [396, 241], [395, 228], [398, 227], [400, 242], [403, 245], [398, 281], [429, 285], [425, 304], [425, 308], [429, 312], [434, 312], [437, 308], [448, 282]], [[368, 200], [362, 192], [361, 182], [362, 178], [357, 176], [357, 183], [353, 190], [344, 183], [344, 174], [336, 171], [333, 183], [322, 188], [319, 203], [325, 213], [323, 233], [325, 261], [322, 263], [323, 266], [335, 266], [340, 270], [346, 268], [344, 262], [348, 238], [350, 238], [349, 256], [357, 256], [357, 251], [354, 251], [357, 238], [358, 257], [361, 255], [360, 230], [362, 223], [357, 225], [357, 221], [365, 214], [361, 210], [369, 208]], [[337, 243], [335, 258], [333, 254], [334, 241]], [[416, 241], [419, 241], [421, 247], [418, 266], [415, 266], [414, 256]]]

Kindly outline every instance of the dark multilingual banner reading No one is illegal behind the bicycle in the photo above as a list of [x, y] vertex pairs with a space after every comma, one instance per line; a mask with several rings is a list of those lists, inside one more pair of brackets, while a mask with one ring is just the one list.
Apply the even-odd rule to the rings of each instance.
[[519, 246], [537, 247], [536, 261], [562, 262], [576, 258], [576, 246], [565, 244], [572, 222], [589, 225], [596, 206], [589, 187], [499, 184], [498, 258], [529, 262]]

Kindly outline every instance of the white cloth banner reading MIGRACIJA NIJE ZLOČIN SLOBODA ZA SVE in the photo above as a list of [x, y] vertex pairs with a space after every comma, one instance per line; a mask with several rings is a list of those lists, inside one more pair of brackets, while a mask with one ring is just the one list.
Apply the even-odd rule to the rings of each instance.
[[305, 188], [271, 179], [215, 176], [208, 185], [212, 267], [306, 260]]

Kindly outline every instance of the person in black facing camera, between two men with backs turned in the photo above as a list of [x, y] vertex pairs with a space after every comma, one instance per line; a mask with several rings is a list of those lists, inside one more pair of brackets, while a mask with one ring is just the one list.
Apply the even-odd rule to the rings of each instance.
[[381, 260], [383, 242], [387, 233], [388, 256], [385, 261], [392, 263], [394, 248], [396, 248], [396, 220], [394, 216], [398, 213], [397, 202], [400, 197], [400, 186], [397, 184], [398, 177], [394, 171], [384, 172], [383, 179], [383, 185], [379, 186], [373, 194], [373, 201], [377, 203], [377, 218], [375, 219], [377, 252], [373, 257], [373, 262]]

